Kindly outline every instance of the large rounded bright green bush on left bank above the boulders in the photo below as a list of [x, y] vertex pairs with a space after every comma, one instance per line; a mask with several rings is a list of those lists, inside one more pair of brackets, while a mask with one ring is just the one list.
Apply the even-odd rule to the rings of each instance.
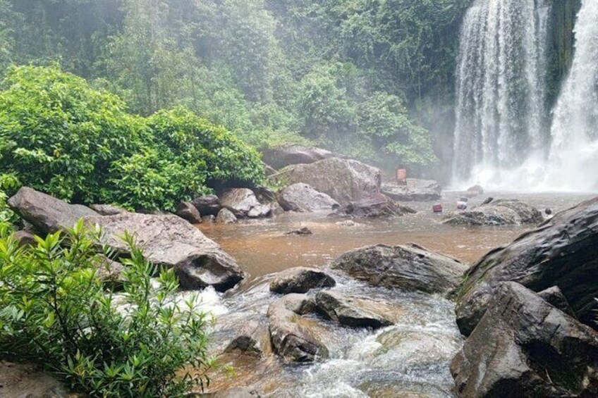
[[2, 87], [0, 173], [60, 199], [174, 210], [263, 178], [254, 149], [184, 108], [133, 116], [58, 66], [11, 67]]

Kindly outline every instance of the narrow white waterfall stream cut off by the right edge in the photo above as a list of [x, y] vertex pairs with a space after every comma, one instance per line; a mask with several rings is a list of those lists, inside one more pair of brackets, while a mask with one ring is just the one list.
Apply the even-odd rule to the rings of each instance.
[[584, 0], [575, 56], [554, 108], [544, 187], [598, 189], [598, 0]]

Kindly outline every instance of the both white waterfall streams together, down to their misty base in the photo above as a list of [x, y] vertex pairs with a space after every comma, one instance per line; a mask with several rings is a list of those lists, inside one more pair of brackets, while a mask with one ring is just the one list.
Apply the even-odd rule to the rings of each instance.
[[598, 1], [582, 2], [551, 128], [544, 108], [548, 15], [542, 0], [477, 0], [468, 11], [457, 70], [456, 185], [598, 188]]

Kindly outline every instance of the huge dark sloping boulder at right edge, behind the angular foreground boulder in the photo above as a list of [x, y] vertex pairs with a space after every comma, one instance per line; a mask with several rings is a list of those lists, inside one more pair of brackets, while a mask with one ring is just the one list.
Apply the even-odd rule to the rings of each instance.
[[558, 286], [578, 319], [596, 328], [598, 197], [490, 251], [468, 270], [456, 291], [457, 324], [464, 335], [480, 321], [500, 282], [509, 280], [535, 292]]

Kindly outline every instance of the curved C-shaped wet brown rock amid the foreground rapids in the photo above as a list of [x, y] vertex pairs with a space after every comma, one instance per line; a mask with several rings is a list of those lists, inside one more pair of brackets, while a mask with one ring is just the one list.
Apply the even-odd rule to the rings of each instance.
[[288, 294], [268, 308], [269, 331], [274, 352], [289, 362], [313, 362], [328, 357], [328, 349], [312, 333], [298, 324], [300, 315], [315, 310], [315, 302], [305, 294]]

